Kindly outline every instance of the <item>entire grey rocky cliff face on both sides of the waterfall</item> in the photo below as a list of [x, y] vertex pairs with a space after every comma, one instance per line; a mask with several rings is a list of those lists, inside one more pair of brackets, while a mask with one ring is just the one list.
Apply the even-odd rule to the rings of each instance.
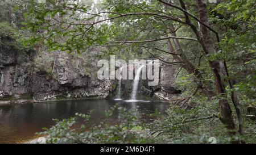
[[[93, 51], [91, 53], [97, 53]], [[85, 57], [85, 56], [84, 56]], [[88, 54], [86, 55], [88, 57]], [[54, 100], [65, 98], [106, 98], [118, 81], [97, 79], [97, 62], [65, 52], [20, 52], [0, 47], [0, 102], [27, 99]], [[159, 86], [148, 87], [141, 81], [139, 94], [171, 99], [180, 91], [173, 86], [176, 76], [174, 66], [160, 66]], [[122, 95], [130, 97], [133, 81], [122, 81]], [[110, 97], [115, 97], [111, 93]]]

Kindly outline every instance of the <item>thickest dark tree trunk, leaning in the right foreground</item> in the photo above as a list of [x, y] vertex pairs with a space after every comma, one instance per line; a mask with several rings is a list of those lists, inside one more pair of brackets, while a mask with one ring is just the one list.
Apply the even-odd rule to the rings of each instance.
[[[204, 0], [197, 0], [197, 5], [199, 7], [199, 19], [205, 25], [209, 26], [208, 16], [207, 16], [207, 2]], [[216, 51], [212, 44], [212, 38], [210, 35], [210, 31], [208, 28], [201, 26], [201, 36], [203, 36], [203, 40], [200, 37], [200, 34], [196, 34], [200, 44], [202, 45], [205, 54], [211, 55]], [[214, 81], [216, 85], [217, 93], [221, 95], [222, 99], [219, 100], [220, 110], [221, 110], [221, 122], [228, 128], [228, 134], [230, 136], [236, 135], [236, 126], [234, 124], [234, 119], [232, 116], [232, 110], [228, 103], [226, 97], [225, 84], [223, 79], [222, 70], [224, 70], [224, 65], [221, 65], [221, 61], [209, 61], [210, 68], [212, 68], [212, 72], [214, 75]]]

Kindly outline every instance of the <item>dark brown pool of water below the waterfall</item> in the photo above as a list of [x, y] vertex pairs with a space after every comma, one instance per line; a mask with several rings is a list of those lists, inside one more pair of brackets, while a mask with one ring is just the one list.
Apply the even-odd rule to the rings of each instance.
[[[0, 106], [0, 143], [23, 143], [34, 139], [36, 132], [55, 124], [53, 118], [69, 118], [75, 116], [76, 112], [86, 114], [93, 110], [89, 124], [96, 125], [104, 120], [104, 111], [109, 110], [116, 103], [126, 108], [137, 107], [141, 122], [152, 121], [150, 114], [156, 109], [164, 113], [168, 108], [167, 103], [125, 103], [113, 100], [65, 100], [3, 105]], [[118, 111], [114, 112], [112, 119], [113, 122], [117, 122]]]

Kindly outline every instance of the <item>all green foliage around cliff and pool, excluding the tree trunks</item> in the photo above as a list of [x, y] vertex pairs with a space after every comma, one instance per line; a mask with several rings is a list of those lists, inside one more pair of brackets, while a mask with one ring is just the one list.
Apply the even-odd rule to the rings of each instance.
[[[65, 51], [72, 54], [86, 52], [83, 55], [86, 58], [96, 53], [90, 51], [90, 47], [107, 45], [107, 47], [97, 49], [101, 52], [95, 55], [102, 58], [115, 54], [124, 60], [159, 57], [172, 61], [174, 56], [168, 54], [169, 48], [166, 40], [133, 44], [125, 44], [122, 41], [154, 40], [166, 37], [172, 33], [169, 27], [171, 24], [177, 28], [177, 36], [195, 37], [187, 26], [170, 21], [168, 18], [160, 18], [158, 15], [183, 18], [181, 16], [183, 12], [164, 6], [158, 1], [76, 2], [72, 3], [69, 0], [46, 0], [45, 2], [30, 0], [30, 3], [27, 1], [21, 3], [18, 0], [15, 3], [1, 2], [0, 6], [4, 6], [3, 8], [12, 6], [9, 19], [2, 18], [6, 9], [0, 11], [1, 41], [13, 44], [17, 48], [22, 43], [25, 47], [46, 45], [49, 51]], [[180, 6], [179, 1], [169, 2]], [[187, 4], [187, 10], [196, 15], [198, 11], [195, 9], [196, 1], [185, 0], [184, 2]], [[226, 94], [236, 91], [242, 112], [247, 114], [247, 107], [256, 106], [255, 0], [225, 0], [210, 4], [208, 8], [210, 27], [218, 31], [221, 37], [220, 43], [213, 39], [217, 52], [213, 55], [205, 55], [199, 43], [180, 40], [183, 55], [200, 71], [201, 82], [213, 91], [215, 91], [213, 89], [214, 77], [208, 62], [209, 60], [225, 60], [230, 74], [229, 79], [234, 82], [234, 89], [230, 89], [228, 78], [224, 76], [227, 85]], [[23, 9], [26, 9], [26, 13], [19, 16], [18, 10]], [[98, 10], [109, 13], [98, 14]], [[152, 12], [155, 15], [123, 15], [134, 12]], [[105, 20], [106, 18], [112, 20]], [[19, 19], [26, 19], [22, 26]], [[197, 21], [192, 18], [191, 20], [192, 24], [200, 29]], [[23, 27], [22, 30], [28, 34], [24, 35], [24, 32], [20, 32], [20, 27]], [[171, 43], [174, 44], [174, 40], [171, 40]], [[179, 55], [180, 49], [176, 52]], [[35, 68], [37, 71], [44, 70], [52, 74], [53, 61], [51, 55], [39, 55], [35, 58]], [[65, 64], [60, 61], [59, 65]], [[72, 66], [77, 69], [79, 63], [72, 61]], [[86, 70], [85, 74], [89, 75], [90, 72]], [[52, 74], [52, 77], [55, 75]], [[194, 79], [194, 74], [188, 74], [185, 69], [181, 69], [174, 83], [175, 87], [183, 91], [181, 98], [190, 97], [196, 90], [197, 83]], [[209, 116], [218, 116], [220, 111], [217, 105], [221, 97], [213, 96], [213, 98], [206, 98], [197, 92], [184, 104], [185, 109], [171, 107], [163, 119], [158, 119], [153, 124], [138, 125], [134, 111], [115, 106], [110, 111], [106, 111], [106, 118], [110, 118], [115, 110], [119, 110], [121, 115], [118, 124], [111, 125], [102, 122], [90, 131], [86, 131], [83, 124], [77, 130], [73, 127], [79, 118], [85, 119], [85, 122], [89, 119], [89, 115], [77, 114], [76, 118], [57, 121], [55, 126], [42, 134], [48, 135], [47, 143], [209, 143], [211, 136], [216, 137], [218, 143], [230, 143], [231, 140], [238, 139], [238, 136], [227, 136], [226, 128], [217, 117], [208, 119]], [[159, 116], [159, 112], [155, 111], [152, 116]], [[255, 136], [251, 134], [255, 133], [255, 121], [250, 118], [243, 118], [243, 121], [246, 134], [241, 138], [249, 143], [255, 142]], [[147, 130], [144, 132], [144, 129], [150, 129], [155, 133], [148, 136]]]

